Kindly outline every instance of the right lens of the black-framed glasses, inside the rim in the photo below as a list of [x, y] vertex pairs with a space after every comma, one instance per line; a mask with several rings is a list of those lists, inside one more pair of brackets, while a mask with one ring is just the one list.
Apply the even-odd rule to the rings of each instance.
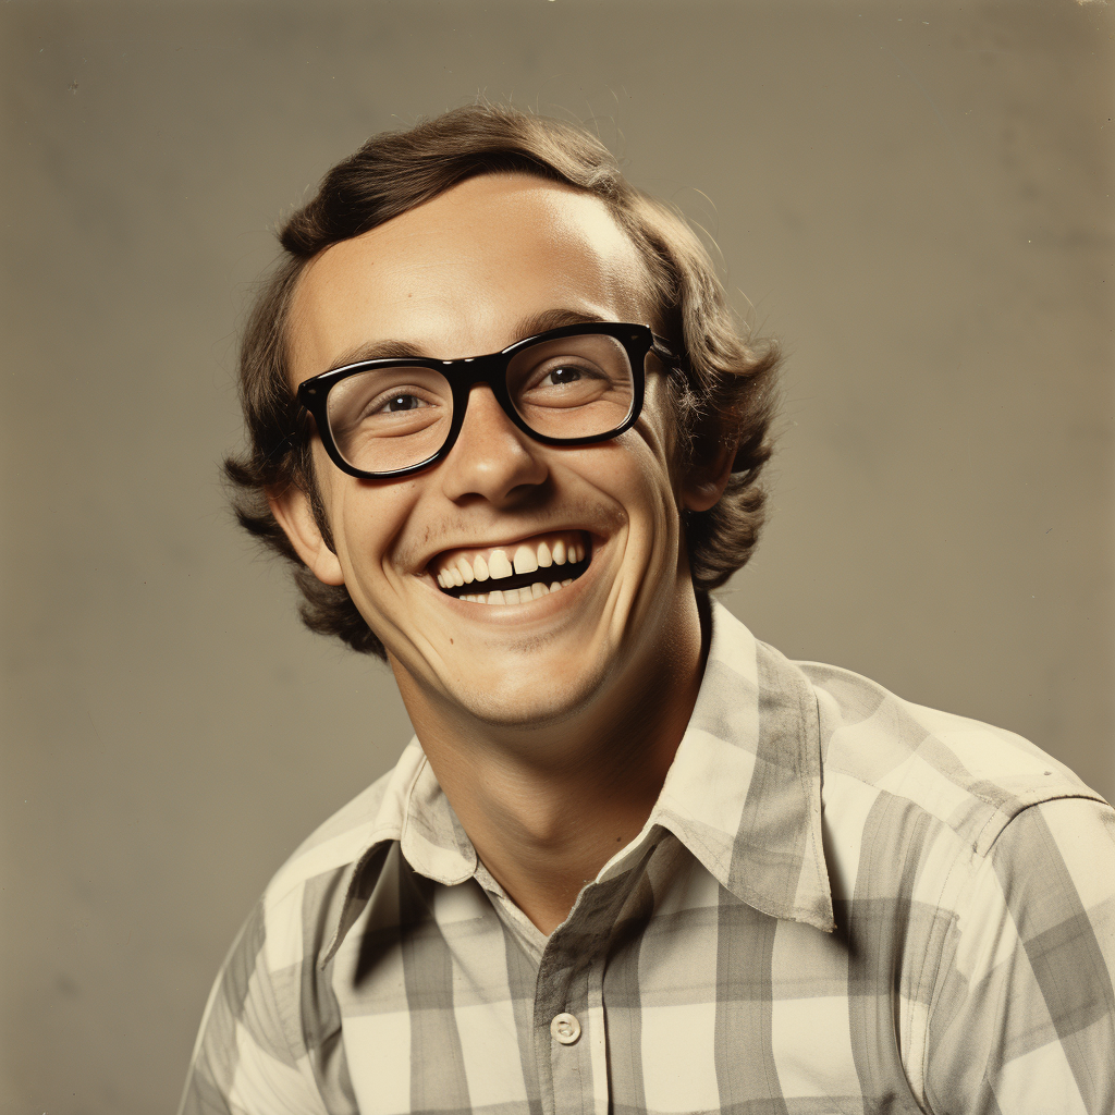
[[634, 377], [620, 341], [607, 333], [584, 333], [516, 352], [507, 368], [507, 391], [536, 433], [593, 437], [627, 421]]

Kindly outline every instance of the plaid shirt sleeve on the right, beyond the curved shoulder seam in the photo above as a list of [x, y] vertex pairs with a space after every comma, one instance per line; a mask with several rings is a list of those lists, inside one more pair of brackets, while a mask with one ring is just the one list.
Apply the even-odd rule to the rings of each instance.
[[1115, 1112], [1115, 811], [1032, 805], [975, 870], [929, 1020], [935, 1115]]

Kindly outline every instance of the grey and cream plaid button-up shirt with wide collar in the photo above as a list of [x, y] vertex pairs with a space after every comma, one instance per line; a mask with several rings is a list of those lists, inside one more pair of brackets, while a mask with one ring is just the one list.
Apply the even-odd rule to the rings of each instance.
[[182, 1111], [1115, 1111], [1115, 812], [714, 605], [637, 840], [547, 939], [420, 747], [275, 875]]

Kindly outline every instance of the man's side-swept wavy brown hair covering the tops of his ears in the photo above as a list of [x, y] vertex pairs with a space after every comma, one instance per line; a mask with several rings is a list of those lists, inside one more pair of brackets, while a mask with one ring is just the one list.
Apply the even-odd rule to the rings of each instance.
[[307, 569], [271, 514], [268, 492], [307, 492], [327, 544], [329, 524], [313, 479], [312, 424], [291, 389], [288, 318], [306, 264], [330, 244], [358, 236], [478, 174], [526, 172], [600, 198], [642, 255], [656, 329], [682, 357], [671, 375], [681, 469], [699, 468], [737, 445], [719, 502], [685, 516], [698, 590], [723, 584], [750, 558], [763, 525], [760, 474], [772, 453], [777, 342], [759, 341], [733, 313], [700, 240], [675, 210], [628, 183], [597, 138], [561, 120], [497, 105], [457, 108], [401, 132], [372, 136], [323, 178], [314, 198], [282, 225], [283, 254], [265, 281], [240, 352], [249, 448], [224, 463], [241, 525], [293, 565], [302, 619], [355, 650], [386, 658], [343, 586]]

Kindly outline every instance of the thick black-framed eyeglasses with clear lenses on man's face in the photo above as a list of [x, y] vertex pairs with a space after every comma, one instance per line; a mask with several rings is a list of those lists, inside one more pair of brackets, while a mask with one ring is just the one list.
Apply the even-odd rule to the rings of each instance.
[[544, 445], [607, 442], [642, 410], [649, 355], [677, 357], [647, 326], [563, 326], [464, 360], [363, 360], [307, 379], [298, 399], [350, 476], [406, 476], [448, 456], [474, 384]]

